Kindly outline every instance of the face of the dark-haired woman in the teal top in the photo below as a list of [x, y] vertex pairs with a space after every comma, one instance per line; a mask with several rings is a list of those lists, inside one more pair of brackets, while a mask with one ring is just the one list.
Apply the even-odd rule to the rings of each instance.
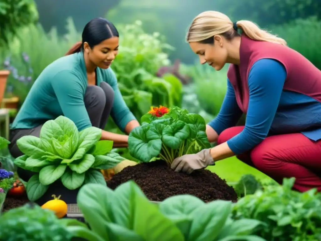
[[88, 53], [88, 57], [92, 63], [102, 69], [110, 67], [118, 53], [118, 37], [111, 37], [94, 46], [92, 49], [87, 43], [84, 44], [84, 49]]

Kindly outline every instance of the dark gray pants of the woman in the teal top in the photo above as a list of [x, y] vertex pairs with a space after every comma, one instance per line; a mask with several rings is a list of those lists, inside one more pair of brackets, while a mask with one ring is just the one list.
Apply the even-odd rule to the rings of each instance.
[[[114, 103], [114, 90], [112, 89], [112, 87], [106, 82], [102, 82], [100, 86], [88, 85], [84, 96], [84, 103], [92, 126], [104, 129]], [[16, 144], [17, 140], [23, 136], [29, 135], [39, 137], [41, 127], [42, 125], [39, 125], [32, 129], [11, 130], [9, 138], [9, 141], [11, 142], [9, 144], [10, 154], [14, 158], [22, 156], [23, 153], [19, 150]], [[20, 176], [20, 174], [19, 176], [24, 181], [28, 181], [33, 173], [19, 169], [20, 168], [18, 168], [18, 174], [20, 173], [24, 177]]]

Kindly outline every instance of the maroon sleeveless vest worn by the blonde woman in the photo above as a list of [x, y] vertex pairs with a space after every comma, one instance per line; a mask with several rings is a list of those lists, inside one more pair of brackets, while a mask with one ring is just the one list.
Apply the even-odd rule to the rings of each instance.
[[321, 102], [321, 71], [297, 51], [265, 41], [255, 41], [242, 35], [240, 45], [240, 65], [231, 64], [227, 77], [236, 96], [236, 101], [243, 113], [247, 112], [249, 90], [248, 74], [253, 64], [262, 58], [280, 61], [287, 72], [283, 90], [290, 90], [308, 95]]

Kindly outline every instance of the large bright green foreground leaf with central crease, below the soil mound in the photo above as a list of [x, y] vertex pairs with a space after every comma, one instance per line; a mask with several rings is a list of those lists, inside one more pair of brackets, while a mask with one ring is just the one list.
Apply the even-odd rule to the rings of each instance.
[[[112, 202], [115, 223], [133, 230], [144, 240], [184, 241], [184, 237], [133, 181], [118, 186]], [[143, 214], [143, 215], [142, 215]]]

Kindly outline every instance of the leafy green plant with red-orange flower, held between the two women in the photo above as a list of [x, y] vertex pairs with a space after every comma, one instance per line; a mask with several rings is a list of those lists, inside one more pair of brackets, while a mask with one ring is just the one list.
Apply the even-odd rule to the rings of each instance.
[[170, 165], [176, 157], [211, 147], [203, 117], [186, 109], [154, 107], [141, 122], [128, 137], [130, 155], [140, 161], [159, 158]]

